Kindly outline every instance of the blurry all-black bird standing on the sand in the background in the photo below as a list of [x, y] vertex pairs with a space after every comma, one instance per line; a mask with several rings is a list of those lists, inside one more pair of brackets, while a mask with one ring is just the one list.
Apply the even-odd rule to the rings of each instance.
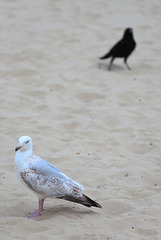
[[133, 38], [133, 30], [132, 28], [126, 28], [123, 38], [117, 42], [111, 50], [105, 54], [103, 57], [100, 57], [100, 59], [106, 59], [111, 57], [111, 61], [108, 67], [108, 70], [111, 70], [112, 63], [115, 58], [124, 58], [124, 63], [126, 67], [130, 70], [129, 65], [127, 64], [127, 59], [132, 53], [132, 51], [136, 47], [136, 42]]

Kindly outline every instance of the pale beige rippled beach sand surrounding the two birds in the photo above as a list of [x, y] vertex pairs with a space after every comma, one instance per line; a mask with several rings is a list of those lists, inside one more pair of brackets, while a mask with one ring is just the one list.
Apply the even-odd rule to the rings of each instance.
[[[161, 2], [0, 1], [0, 239], [161, 239]], [[99, 57], [126, 27], [136, 51]], [[14, 171], [22, 135], [34, 154], [102, 209], [37, 197]]]

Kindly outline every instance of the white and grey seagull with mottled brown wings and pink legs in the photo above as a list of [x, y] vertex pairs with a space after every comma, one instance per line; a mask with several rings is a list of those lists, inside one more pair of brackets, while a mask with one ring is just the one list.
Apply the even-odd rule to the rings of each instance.
[[100, 204], [83, 194], [85, 189], [81, 184], [67, 177], [51, 163], [33, 155], [33, 144], [30, 137], [20, 137], [15, 151], [17, 177], [39, 199], [38, 210], [30, 213], [28, 218], [41, 216], [46, 198], [59, 198], [86, 207], [101, 208]]

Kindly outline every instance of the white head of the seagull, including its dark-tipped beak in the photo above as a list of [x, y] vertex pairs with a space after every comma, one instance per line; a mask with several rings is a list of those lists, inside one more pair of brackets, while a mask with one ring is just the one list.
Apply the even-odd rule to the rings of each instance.
[[28, 136], [22, 136], [18, 139], [18, 145], [15, 148], [15, 151], [27, 151], [32, 149], [32, 139]]

